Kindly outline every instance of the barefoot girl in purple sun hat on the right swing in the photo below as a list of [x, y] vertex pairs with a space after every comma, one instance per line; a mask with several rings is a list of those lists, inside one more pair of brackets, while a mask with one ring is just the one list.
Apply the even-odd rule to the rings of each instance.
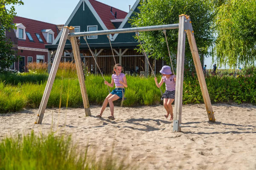
[[166, 118], [169, 117], [169, 114], [171, 115], [170, 120], [173, 119], [173, 113], [172, 113], [172, 102], [175, 99], [175, 82], [176, 77], [172, 73], [171, 68], [168, 65], [164, 65], [162, 69], [160, 70], [160, 73], [163, 75], [161, 81], [157, 82], [157, 77], [155, 77], [155, 82], [158, 88], [161, 87], [163, 82], [166, 83], [166, 91], [164, 92], [163, 96], [161, 97], [161, 100], [163, 100], [163, 106], [167, 111], [167, 115], [165, 115]]

